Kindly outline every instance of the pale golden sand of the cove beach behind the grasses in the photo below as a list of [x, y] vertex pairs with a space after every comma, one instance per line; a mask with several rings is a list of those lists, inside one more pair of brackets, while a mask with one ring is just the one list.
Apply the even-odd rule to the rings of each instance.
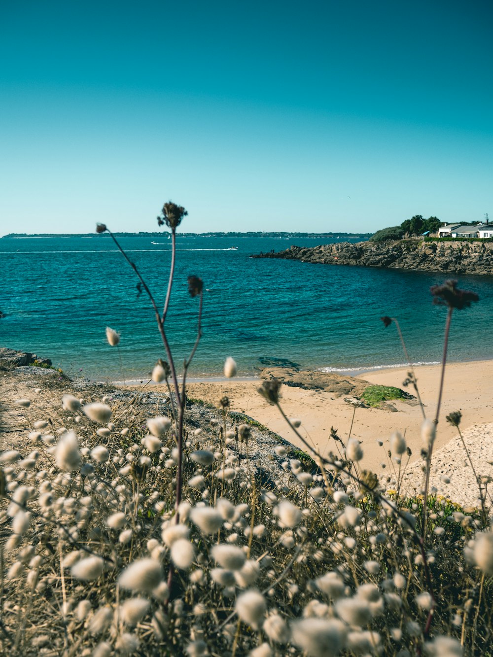
[[[372, 384], [402, 387], [407, 371], [408, 368], [379, 370], [364, 374], [360, 378], [365, 378]], [[433, 419], [440, 382], [440, 366], [416, 367], [415, 374], [421, 399], [425, 405], [425, 413], [427, 417]], [[461, 430], [471, 442], [471, 449], [479, 449], [479, 456], [482, 460], [493, 460], [493, 437], [488, 431], [489, 428], [482, 426], [493, 422], [492, 382], [493, 361], [450, 363], [447, 366], [435, 443], [437, 451], [451, 441], [456, 441], [457, 430], [446, 422], [445, 417], [452, 411], [461, 411]], [[188, 388], [191, 396], [212, 403], [216, 403], [222, 394], [227, 394], [231, 399], [233, 411], [247, 413], [283, 438], [303, 447], [277, 409], [268, 405], [256, 392], [259, 385], [260, 380], [240, 382], [233, 378], [221, 382], [192, 383]], [[288, 417], [298, 418], [302, 421], [300, 432], [321, 453], [326, 453], [334, 447], [330, 439], [331, 426], [337, 429], [343, 440], [347, 439], [354, 407], [344, 401], [344, 396], [336, 397], [323, 390], [304, 390], [289, 386], [283, 386], [281, 390], [285, 413]], [[413, 392], [411, 389], [408, 390]], [[399, 400], [392, 401], [392, 405], [396, 412], [375, 408], [356, 408], [352, 424], [351, 436], [362, 441], [364, 447], [363, 466], [379, 474], [383, 472], [381, 463], [387, 461], [388, 439], [395, 430], [406, 432], [406, 440], [413, 453], [411, 463], [419, 461], [420, 458], [422, 415], [419, 405], [411, 405], [406, 401]], [[384, 447], [379, 447], [377, 440], [383, 441]], [[440, 454], [441, 467], [446, 468], [446, 449]], [[458, 453], [454, 452], [454, 459], [458, 458], [460, 458]], [[417, 476], [419, 467], [414, 468], [414, 471]], [[418, 486], [416, 481], [413, 483]]]

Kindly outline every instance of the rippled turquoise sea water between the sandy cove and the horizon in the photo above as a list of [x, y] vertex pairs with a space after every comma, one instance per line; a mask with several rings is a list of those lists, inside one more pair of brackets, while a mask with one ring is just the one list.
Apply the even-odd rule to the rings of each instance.
[[[120, 242], [162, 306], [171, 252], [166, 233]], [[398, 317], [413, 361], [439, 361], [446, 311], [432, 305], [429, 288], [446, 275], [250, 258], [261, 250], [322, 242], [179, 237], [166, 325], [176, 362], [191, 350], [197, 329], [190, 274], [202, 277], [205, 288], [192, 377], [220, 375], [227, 355], [244, 376], [266, 358], [335, 370], [404, 363], [394, 327], [384, 328], [381, 315]], [[0, 310], [6, 315], [0, 345], [51, 357], [69, 373], [121, 379], [117, 350], [105, 338], [110, 326], [122, 334], [125, 378], [144, 378], [164, 357], [149, 299], [137, 296], [135, 274], [110, 238], [3, 238], [0, 258]], [[492, 284], [491, 277], [459, 278], [481, 301], [454, 317], [452, 360], [493, 357]]]

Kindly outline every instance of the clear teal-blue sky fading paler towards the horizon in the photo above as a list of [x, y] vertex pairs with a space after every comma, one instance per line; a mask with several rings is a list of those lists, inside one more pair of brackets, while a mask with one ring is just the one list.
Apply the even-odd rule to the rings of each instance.
[[493, 5], [0, 8], [0, 235], [493, 217]]

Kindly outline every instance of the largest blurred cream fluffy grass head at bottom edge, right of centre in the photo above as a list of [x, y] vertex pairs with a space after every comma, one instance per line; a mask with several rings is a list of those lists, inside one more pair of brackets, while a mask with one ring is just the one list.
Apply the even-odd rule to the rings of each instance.
[[334, 657], [344, 646], [346, 629], [339, 620], [305, 618], [291, 623], [291, 638], [309, 657]]

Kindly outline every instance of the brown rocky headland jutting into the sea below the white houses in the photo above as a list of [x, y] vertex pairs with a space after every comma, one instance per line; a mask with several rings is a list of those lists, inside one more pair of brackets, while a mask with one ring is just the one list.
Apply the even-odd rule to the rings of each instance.
[[279, 253], [252, 258], [281, 258], [326, 265], [361, 265], [450, 274], [493, 275], [493, 242], [339, 242], [312, 248], [291, 246]]

